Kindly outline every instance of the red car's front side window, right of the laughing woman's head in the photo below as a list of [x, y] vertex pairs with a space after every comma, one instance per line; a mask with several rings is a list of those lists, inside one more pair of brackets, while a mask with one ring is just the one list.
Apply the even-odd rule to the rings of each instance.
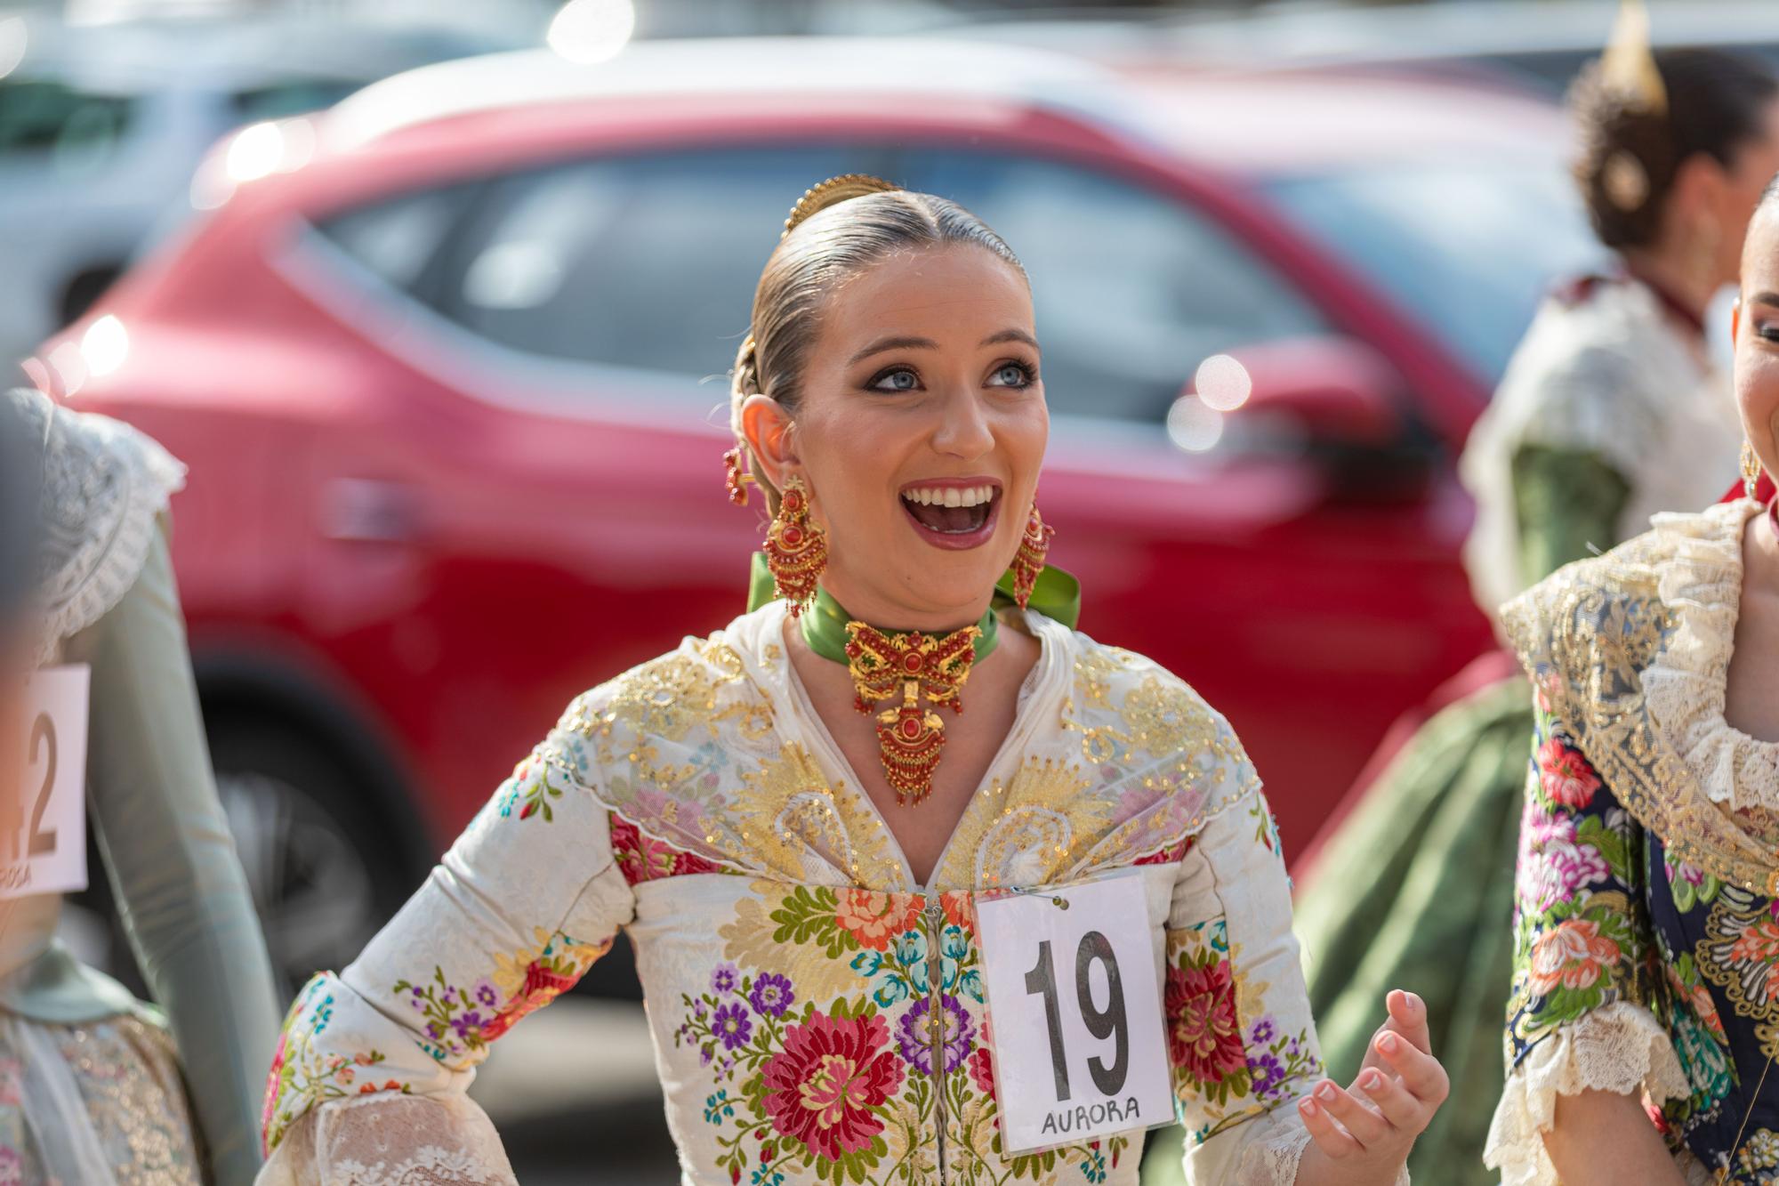
[[1123, 178], [914, 150], [898, 180], [970, 208], [1025, 264], [1053, 411], [1158, 422], [1206, 356], [1325, 329], [1226, 228]]

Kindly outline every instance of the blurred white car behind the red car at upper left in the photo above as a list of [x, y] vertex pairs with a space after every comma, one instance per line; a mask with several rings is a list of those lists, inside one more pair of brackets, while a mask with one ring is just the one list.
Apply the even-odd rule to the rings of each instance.
[[283, 18], [68, 27], [0, 16], [0, 370], [190, 212], [192, 171], [224, 134], [516, 45]]

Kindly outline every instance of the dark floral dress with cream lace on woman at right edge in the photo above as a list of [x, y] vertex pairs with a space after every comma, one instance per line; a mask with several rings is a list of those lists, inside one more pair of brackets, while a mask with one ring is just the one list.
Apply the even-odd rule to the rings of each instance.
[[1505, 609], [1537, 700], [1487, 1161], [1555, 1184], [1558, 1095], [1642, 1093], [1688, 1182], [1779, 1182], [1779, 744], [1724, 719], [1754, 502], [1660, 515]]

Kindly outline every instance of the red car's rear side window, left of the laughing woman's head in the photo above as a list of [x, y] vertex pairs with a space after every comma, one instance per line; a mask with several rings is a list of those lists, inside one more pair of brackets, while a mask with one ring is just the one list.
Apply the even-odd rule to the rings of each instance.
[[438, 287], [447, 317], [502, 345], [706, 378], [747, 333], [760, 269], [792, 203], [849, 148], [703, 150], [505, 178]]

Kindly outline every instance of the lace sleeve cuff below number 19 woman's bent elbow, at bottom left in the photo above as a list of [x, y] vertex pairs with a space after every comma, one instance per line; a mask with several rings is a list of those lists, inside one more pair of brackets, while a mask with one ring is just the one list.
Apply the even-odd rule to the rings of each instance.
[[324, 1104], [290, 1127], [254, 1186], [518, 1186], [495, 1125], [452, 1095]]

